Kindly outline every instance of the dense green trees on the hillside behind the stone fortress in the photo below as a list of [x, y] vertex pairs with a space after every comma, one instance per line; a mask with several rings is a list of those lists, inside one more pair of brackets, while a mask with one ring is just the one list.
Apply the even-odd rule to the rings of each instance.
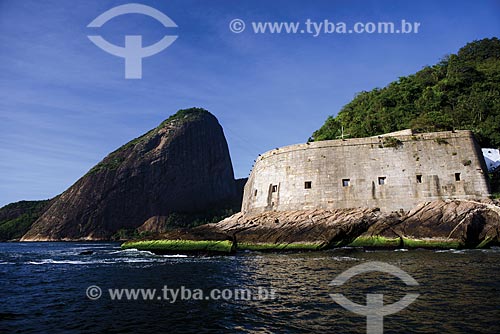
[[434, 66], [361, 92], [310, 140], [472, 130], [482, 147], [500, 147], [500, 40], [468, 43]]

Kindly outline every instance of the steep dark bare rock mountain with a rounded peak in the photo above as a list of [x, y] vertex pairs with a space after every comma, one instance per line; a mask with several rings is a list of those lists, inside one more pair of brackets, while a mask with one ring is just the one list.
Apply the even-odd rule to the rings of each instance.
[[235, 198], [222, 127], [206, 110], [180, 110], [104, 158], [22, 240], [109, 239], [153, 216], [227, 207]]

